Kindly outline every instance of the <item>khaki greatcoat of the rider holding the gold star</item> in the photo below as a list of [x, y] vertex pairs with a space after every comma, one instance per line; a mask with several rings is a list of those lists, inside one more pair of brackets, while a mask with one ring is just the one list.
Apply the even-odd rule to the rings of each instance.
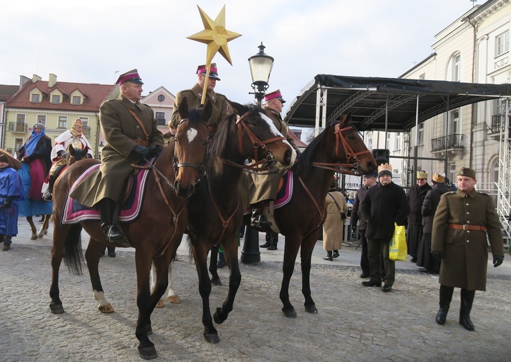
[[[183, 98], [187, 99], [188, 107], [194, 108], [201, 104], [201, 100], [203, 97], [203, 88], [199, 86], [197, 83], [191, 87], [191, 89], [185, 89], [184, 91], [178, 92], [175, 95], [174, 100], [174, 108], [172, 111], [172, 125], [178, 128], [178, 125], [181, 120], [181, 116], [179, 114], [179, 105]], [[230, 104], [225, 95], [220, 93], [215, 93], [214, 91], [208, 91], [206, 93], [206, 100], [210, 100], [213, 104], [213, 111], [211, 113], [210, 119], [207, 124], [210, 126], [210, 132], [214, 133], [217, 131], [217, 125], [219, 121], [230, 113], [233, 113]]]

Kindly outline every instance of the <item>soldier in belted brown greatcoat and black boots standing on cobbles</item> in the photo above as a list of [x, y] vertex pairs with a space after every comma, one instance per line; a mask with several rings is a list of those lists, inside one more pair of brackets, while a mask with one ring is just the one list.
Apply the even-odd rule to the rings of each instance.
[[443, 194], [434, 214], [431, 245], [433, 255], [442, 259], [436, 321], [445, 324], [454, 288], [461, 288], [459, 324], [469, 331], [474, 330], [470, 312], [475, 290], [486, 290], [487, 240], [494, 267], [504, 260], [501, 223], [494, 201], [475, 190], [476, 182], [472, 168], [459, 170], [457, 191]]

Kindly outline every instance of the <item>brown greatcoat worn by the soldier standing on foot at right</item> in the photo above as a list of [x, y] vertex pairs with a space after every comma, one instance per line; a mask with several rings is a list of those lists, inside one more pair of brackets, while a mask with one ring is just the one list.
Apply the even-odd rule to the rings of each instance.
[[[486, 226], [487, 231], [448, 228], [448, 223]], [[433, 219], [432, 251], [443, 252], [439, 283], [468, 290], [486, 290], [487, 236], [493, 255], [504, 255], [501, 223], [491, 196], [443, 194]]]

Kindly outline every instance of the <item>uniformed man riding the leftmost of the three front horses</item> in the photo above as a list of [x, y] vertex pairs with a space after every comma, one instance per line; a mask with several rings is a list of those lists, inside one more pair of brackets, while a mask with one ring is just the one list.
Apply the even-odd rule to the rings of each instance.
[[125, 242], [123, 230], [113, 221], [122, 185], [133, 172], [131, 164], [161, 152], [163, 135], [155, 112], [140, 102], [143, 82], [139, 72], [134, 69], [120, 74], [116, 84], [119, 97], [100, 107], [101, 130], [107, 140], [101, 151], [100, 172], [81, 182], [71, 197], [100, 211], [101, 227], [109, 242]]

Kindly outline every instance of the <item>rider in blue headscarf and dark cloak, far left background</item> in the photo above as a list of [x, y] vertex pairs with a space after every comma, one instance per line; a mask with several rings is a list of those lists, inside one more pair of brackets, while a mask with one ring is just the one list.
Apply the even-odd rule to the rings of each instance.
[[17, 155], [17, 159], [30, 166], [31, 186], [28, 197], [33, 200], [42, 200], [42, 184], [52, 166], [51, 152], [52, 139], [45, 134], [45, 125], [36, 123]]

